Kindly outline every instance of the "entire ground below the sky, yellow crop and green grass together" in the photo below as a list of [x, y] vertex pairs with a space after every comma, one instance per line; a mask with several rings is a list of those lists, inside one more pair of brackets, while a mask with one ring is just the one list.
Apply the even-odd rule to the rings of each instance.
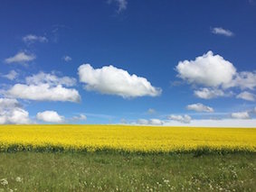
[[1, 125], [0, 191], [253, 191], [256, 130]]

